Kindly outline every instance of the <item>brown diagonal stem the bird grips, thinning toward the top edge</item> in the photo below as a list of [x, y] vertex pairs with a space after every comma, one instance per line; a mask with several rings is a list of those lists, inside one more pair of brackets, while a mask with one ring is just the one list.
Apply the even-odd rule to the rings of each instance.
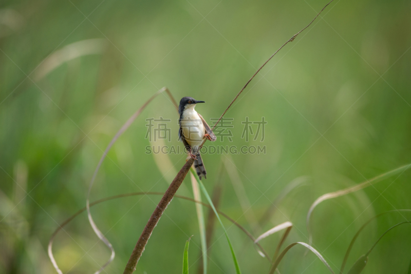
[[[227, 107], [227, 109], [221, 114], [220, 118], [218, 121], [214, 124], [213, 129], [217, 126], [217, 124], [220, 122], [222, 116], [226, 114], [228, 109], [231, 107], [231, 105], [237, 100], [238, 96], [241, 94], [241, 92], [248, 86], [248, 84], [251, 82], [251, 80], [254, 79], [255, 75], [271, 60], [272, 57], [274, 57], [275, 54], [277, 54], [278, 51], [280, 51], [285, 45], [287, 45], [289, 42], [294, 41], [295, 37], [297, 37], [298, 34], [300, 34], [302, 31], [304, 31], [306, 28], [308, 28], [312, 22], [320, 15], [320, 13], [332, 2], [331, 0], [327, 5], [324, 6], [324, 8], [312, 19], [310, 24], [308, 24], [305, 28], [302, 30], [298, 31], [296, 34], [294, 34], [286, 43], [284, 43], [283, 46], [281, 46], [277, 51], [274, 52], [273, 55], [268, 58], [268, 60], [254, 73], [254, 75], [248, 80], [246, 85], [238, 92], [238, 94], [234, 97], [233, 101], [230, 103], [230, 105]], [[200, 145], [200, 148], [206, 143], [207, 139], [204, 138], [204, 141]], [[188, 165], [189, 164], [189, 165]], [[157, 225], [159, 218], [161, 217], [161, 214], [164, 212], [166, 206], [168, 203], [171, 201], [173, 198], [174, 193], [176, 193], [178, 187], [181, 185], [182, 181], [185, 178], [185, 175], [188, 173], [188, 170], [190, 169], [190, 166], [193, 164], [193, 159], [190, 159], [185, 165], [181, 168], [181, 170], [178, 172], [176, 178], [173, 180], [173, 183], [170, 185], [169, 189], [164, 193], [163, 198], [161, 199], [160, 203], [157, 205], [156, 209], [153, 212], [152, 217], [144, 227], [143, 232], [141, 233], [140, 238], [137, 241], [136, 247], [133, 250], [132, 255], [130, 256], [130, 259], [127, 262], [127, 265], [124, 269], [123, 274], [131, 274], [134, 272], [136, 269], [138, 260], [140, 259], [144, 247], [147, 244], [148, 238], [150, 238], [151, 233], [153, 232], [154, 227]], [[165, 203], [166, 202], [166, 203]]]

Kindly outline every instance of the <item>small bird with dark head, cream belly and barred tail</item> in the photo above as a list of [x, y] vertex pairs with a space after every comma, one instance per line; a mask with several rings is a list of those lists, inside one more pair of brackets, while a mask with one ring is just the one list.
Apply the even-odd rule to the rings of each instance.
[[[206, 103], [204, 101], [197, 101], [192, 97], [183, 97], [180, 100], [180, 106], [178, 107], [178, 113], [180, 119], [180, 130], [178, 132], [178, 139], [181, 140], [185, 148], [190, 151], [190, 156], [194, 159], [194, 167], [197, 171], [198, 178], [204, 176], [206, 178], [206, 167], [202, 162], [199, 146], [202, 144], [203, 139], [214, 142], [217, 138], [207, 122], [202, 116], [194, 110], [196, 104]], [[207, 178], [206, 178], [207, 179]]]

